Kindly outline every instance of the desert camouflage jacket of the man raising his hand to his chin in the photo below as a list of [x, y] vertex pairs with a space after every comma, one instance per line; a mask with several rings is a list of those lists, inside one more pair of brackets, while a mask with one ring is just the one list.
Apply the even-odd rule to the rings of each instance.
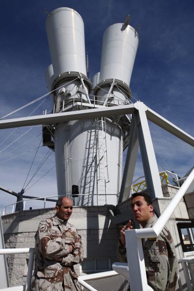
[[[151, 217], [145, 228], [152, 227], [156, 220], [156, 216]], [[175, 291], [178, 264], [170, 231], [164, 227], [156, 239], [144, 239], [142, 244], [148, 285], [155, 291]], [[126, 247], [120, 240], [117, 258], [120, 262], [127, 261]]]

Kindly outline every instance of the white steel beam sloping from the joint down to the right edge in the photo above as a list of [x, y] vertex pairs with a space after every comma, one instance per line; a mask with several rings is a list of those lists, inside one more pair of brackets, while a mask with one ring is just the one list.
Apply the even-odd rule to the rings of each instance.
[[147, 119], [152, 121], [153, 123], [160, 126], [162, 129], [167, 130], [168, 132], [172, 133], [173, 135], [177, 136], [182, 141], [186, 142], [187, 144], [194, 146], [194, 137], [179, 129], [173, 123], [162, 117], [160, 114], [156, 113], [155, 111], [151, 110], [147, 107], [146, 110]]

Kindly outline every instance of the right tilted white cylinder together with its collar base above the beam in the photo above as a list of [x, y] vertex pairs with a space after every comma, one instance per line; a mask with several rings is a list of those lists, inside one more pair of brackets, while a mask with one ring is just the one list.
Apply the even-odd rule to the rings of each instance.
[[100, 78], [95, 89], [99, 104], [113, 106], [129, 103], [129, 83], [138, 42], [134, 28], [123, 23], [113, 24], [104, 32]]

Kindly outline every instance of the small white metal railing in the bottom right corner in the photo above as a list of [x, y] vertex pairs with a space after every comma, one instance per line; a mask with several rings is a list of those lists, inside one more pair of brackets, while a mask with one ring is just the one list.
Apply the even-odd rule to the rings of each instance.
[[[191, 272], [189, 272], [190, 268], [189, 268], [188, 264], [194, 263], [194, 256], [193, 257], [189, 257], [189, 258], [178, 259], [178, 262], [182, 264], [183, 273], [184, 273], [184, 276], [185, 276], [185, 280], [186, 280], [188, 291], [193, 291], [193, 288], [194, 288], [194, 275], [191, 274]], [[193, 287], [192, 287], [192, 285], [193, 285]]]

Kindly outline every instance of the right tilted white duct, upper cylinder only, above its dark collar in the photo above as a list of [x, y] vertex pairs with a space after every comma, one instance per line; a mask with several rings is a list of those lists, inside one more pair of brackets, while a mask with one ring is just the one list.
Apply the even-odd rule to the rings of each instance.
[[122, 23], [109, 26], [103, 35], [99, 81], [117, 79], [129, 86], [137, 47], [134, 28]]

